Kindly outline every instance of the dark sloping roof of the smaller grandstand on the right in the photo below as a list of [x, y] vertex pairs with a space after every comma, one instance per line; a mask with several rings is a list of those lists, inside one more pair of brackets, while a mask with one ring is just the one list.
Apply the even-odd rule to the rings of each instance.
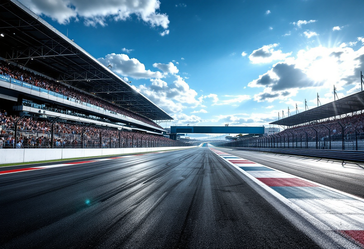
[[342, 99], [318, 106], [308, 111], [289, 116], [270, 124], [295, 126], [333, 116], [344, 115], [350, 112], [364, 110], [364, 91], [346, 96]]

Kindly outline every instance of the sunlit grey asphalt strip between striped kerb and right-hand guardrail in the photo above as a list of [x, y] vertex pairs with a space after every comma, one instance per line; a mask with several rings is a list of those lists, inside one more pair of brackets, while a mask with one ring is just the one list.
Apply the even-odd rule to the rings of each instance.
[[[253, 162], [281, 170], [298, 177], [308, 179], [322, 185], [332, 187], [345, 193], [364, 198], [364, 165], [359, 163], [340, 163], [326, 159], [305, 158], [273, 153], [262, 153], [257, 151], [234, 150], [218, 147], [223, 152], [243, 157]], [[314, 164], [332, 164], [330, 167], [318, 167]], [[347, 171], [336, 170], [336, 167], [344, 169], [347, 165], [359, 165], [357, 169]], [[339, 166], [338, 166], [339, 165]]]

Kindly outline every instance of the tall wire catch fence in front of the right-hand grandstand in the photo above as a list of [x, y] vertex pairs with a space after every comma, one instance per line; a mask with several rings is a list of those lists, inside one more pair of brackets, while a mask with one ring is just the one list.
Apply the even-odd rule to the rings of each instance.
[[287, 129], [264, 137], [250, 137], [220, 143], [224, 147], [364, 150], [364, 133], [339, 122]]

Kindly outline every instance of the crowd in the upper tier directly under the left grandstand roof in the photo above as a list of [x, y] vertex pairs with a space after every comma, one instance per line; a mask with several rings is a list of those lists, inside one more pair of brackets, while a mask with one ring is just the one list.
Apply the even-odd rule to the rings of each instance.
[[161, 126], [154, 123], [152, 120], [127, 110], [125, 108], [119, 107], [116, 104], [110, 103], [104, 99], [101, 99], [95, 95], [80, 91], [76, 88], [66, 86], [60, 82], [56, 82], [50, 78], [37, 75], [29, 70], [25, 70], [23, 68], [14, 66], [12, 64], [8, 64], [3, 60], [0, 60], [0, 74], [9, 76], [13, 79], [21, 80], [25, 83], [32, 84], [33, 86], [37, 86], [48, 91], [57, 92], [58, 94], [62, 94], [69, 98], [73, 98], [79, 100], [80, 102], [93, 104], [94, 106], [99, 106], [104, 108], [105, 110], [116, 112], [118, 114], [122, 114], [128, 116], [130, 118], [134, 118], [141, 122], [147, 123], [151, 126], [155, 126], [158, 128], [162, 128]]

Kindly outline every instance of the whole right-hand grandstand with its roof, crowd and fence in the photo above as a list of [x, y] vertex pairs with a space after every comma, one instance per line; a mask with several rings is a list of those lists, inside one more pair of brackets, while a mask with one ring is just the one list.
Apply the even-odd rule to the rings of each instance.
[[364, 91], [270, 123], [287, 126], [266, 136], [244, 136], [228, 147], [364, 150]]

